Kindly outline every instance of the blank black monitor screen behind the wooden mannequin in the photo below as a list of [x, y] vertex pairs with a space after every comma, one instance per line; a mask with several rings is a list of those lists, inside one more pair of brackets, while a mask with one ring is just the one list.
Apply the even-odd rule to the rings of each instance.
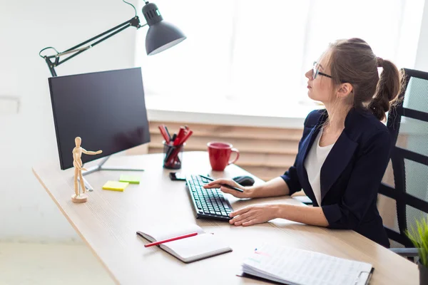
[[74, 139], [89, 162], [150, 142], [141, 68], [49, 78], [61, 170], [73, 167]]

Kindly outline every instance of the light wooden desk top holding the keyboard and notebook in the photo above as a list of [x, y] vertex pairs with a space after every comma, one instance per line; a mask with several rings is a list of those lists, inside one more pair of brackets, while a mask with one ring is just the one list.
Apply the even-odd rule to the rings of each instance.
[[[141, 184], [130, 185], [124, 192], [101, 189], [107, 180], [118, 180], [123, 172], [101, 171], [86, 176], [95, 190], [88, 192], [88, 202], [84, 204], [71, 202], [73, 169], [60, 170], [58, 162], [48, 162], [34, 167], [33, 172], [118, 284], [261, 284], [235, 274], [243, 259], [263, 242], [369, 262], [375, 268], [370, 284], [419, 282], [417, 265], [353, 231], [312, 227], [284, 219], [251, 227], [195, 219], [185, 182], [169, 180], [170, 170], [163, 169], [161, 154], [116, 156], [106, 165], [143, 167], [146, 171], [128, 172], [141, 175]], [[184, 152], [181, 171], [210, 173], [213, 177], [248, 174], [235, 165], [226, 167], [224, 172], [211, 172], [205, 152]], [[228, 197], [234, 209], [254, 203], [300, 204], [290, 197], [254, 200]], [[184, 264], [158, 247], [143, 247], [147, 241], [137, 237], [136, 231], [153, 222], [196, 223], [205, 231], [228, 239], [233, 252]], [[70, 270], [78, 272], [78, 266], [76, 263], [76, 268]]]

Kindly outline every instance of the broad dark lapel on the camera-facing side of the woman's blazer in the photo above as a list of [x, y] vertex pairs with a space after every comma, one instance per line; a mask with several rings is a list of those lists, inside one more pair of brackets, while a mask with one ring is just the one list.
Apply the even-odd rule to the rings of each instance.
[[333, 145], [332, 150], [330, 150], [321, 167], [321, 200], [324, 199], [330, 187], [332, 187], [343, 170], [345, 170], [352, 155], [354, 155], [357, 145], [357, 142], [348, 138], [345, 131], [342, 132], [335, 145]]

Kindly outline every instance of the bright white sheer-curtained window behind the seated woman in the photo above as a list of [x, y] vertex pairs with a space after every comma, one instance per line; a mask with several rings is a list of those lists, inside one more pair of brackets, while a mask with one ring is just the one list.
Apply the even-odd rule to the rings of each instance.
[[266, 115], [307, 101], [304, 74], [338, 38], [363, 38], [377, 56], [412, 68], [424, 6], [424, 0], [154, 3], [188, 38], [146, 56], [146, 31], [138, 32], [146, 98], [188, 108], [238, 103]]

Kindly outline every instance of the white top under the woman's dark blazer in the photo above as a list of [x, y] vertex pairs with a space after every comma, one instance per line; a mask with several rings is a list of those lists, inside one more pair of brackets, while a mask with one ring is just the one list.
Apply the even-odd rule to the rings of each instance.
[[317, 138], [315, 139], [310, 151], [307, 154], [305, 160], [305, 168], [307, 172], [307, 178], [309, 179], [310, 186], [314, 192], [315, 198], [317, 199], [318, 205], [321, 206], [321, 185], [320, 185], [320, 173], [321, 167], [324, 164], [325, 158], [332, 149], [332, 145], [326, 145], [325, 147], [320, 147], [320, 138], [322, 135], [322, 129], [318, 133]]

